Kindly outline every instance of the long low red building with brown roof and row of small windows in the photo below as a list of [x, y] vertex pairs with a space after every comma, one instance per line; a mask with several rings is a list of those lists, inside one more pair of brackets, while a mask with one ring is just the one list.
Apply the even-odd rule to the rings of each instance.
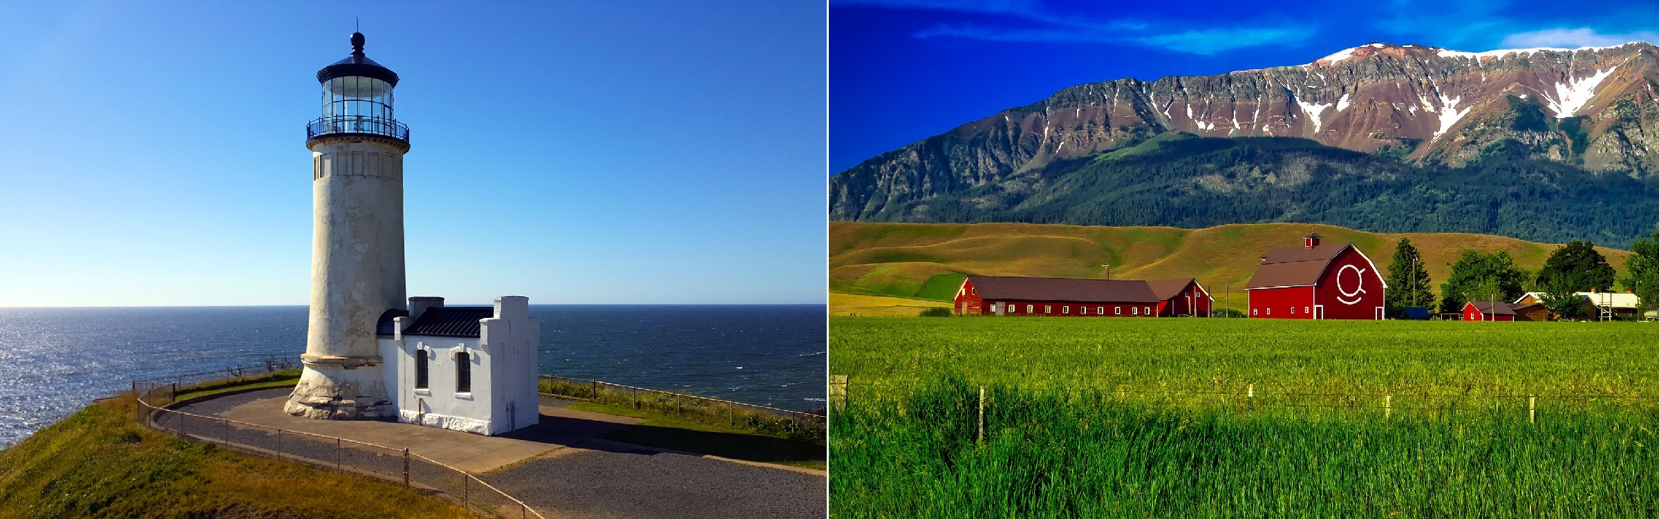
[[1107, 280], [969, 275], [959, 315], [1209, 317], [1214, 300], [1194, 279]]

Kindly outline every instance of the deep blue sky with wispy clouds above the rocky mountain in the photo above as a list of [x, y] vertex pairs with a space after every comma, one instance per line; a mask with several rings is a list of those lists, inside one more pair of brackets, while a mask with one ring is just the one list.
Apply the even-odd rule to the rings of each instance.
[[1369, 41], [1659, 43], [1656, 22], [1636, 2], [831, 0], [830, 172], [1080, 83], [1301, 65]]

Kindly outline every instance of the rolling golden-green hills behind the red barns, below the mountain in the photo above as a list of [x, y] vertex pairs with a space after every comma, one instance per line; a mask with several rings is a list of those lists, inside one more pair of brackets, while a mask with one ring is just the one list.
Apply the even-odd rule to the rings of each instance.
[[[1538, 269], [1558, 247], [1485, 234], [1382, 234], [1321, 224], [1175, 229], [831, 222], [830, 287], [843, 293], [949, 300], [964, 274], [1095, 279], [1105, 277], [1103, 264], [1112, 264], [1113, 279], [1196, 277], [1218, 305], [1243, 308], [1243, 287], [1261, 252], [1301, 244], [1307, 232], [1319, 232], [1327, 242], [1354, 242], [1384, 270], [1394, 247], [1408, 237], [1422, 252], [1435, 289], [1463, 249], [1505, 250], [1516, 265]], [[1627, 250], [1596, 249], [1624, 275]]]

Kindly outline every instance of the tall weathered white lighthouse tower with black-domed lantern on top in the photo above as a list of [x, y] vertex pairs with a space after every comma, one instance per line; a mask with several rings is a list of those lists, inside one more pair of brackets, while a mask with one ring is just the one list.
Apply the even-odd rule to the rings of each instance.
[[378, 338], [406, 317], [403, 154], [408, 126], [392, 114], [398, 75], [363, 55], [317, 71], [322, 118], [305, 128], [312, 151], [310, 330], [289, 415], [327, 420], [398, 416]]

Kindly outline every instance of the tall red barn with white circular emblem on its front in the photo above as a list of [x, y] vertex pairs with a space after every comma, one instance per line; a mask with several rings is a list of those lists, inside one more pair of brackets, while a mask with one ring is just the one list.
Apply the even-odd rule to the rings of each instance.
[[1352, 242], [1321, 244], [1309, 232], [1301, 247], [1267, 250], [1244, 285], [1249, 317], [1384, 318], [1382, 272]]

